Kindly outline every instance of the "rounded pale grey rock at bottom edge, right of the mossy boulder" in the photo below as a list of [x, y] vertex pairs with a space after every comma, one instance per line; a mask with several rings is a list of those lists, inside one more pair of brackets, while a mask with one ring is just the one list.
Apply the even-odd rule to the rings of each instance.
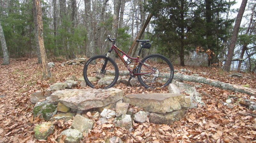
[[[60, 133], [60, 135], [66, 135], [66, 139], [64, 140], [65, 143], [79, 143], [83, 138], [83, 133], [76, 130], [68, 128]], [[61, 137], [61, 136], [60, 136]], [[58, 139], [58, 142], [60, 138]]]

